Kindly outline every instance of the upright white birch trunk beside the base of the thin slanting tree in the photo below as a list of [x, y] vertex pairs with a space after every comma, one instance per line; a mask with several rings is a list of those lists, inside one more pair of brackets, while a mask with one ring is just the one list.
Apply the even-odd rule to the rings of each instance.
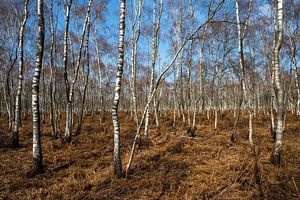
[[124, 38], [125, 38], [125, 11], [126, 0], [120, 0], [120, 26], [118, 44], [118, 71], [116, 77], [115, 95], [112, 107], [112, 119], [114, 125], [114, 174], [118, 177], [122, 175], [122, 161], [120, 151], [120, 124], [118, 108], [121, 93], [121, 79], [124, 65]]

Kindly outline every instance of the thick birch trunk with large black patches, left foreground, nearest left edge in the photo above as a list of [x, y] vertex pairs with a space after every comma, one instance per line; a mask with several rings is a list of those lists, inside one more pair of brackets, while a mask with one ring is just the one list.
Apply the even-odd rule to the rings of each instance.
[[39, 82], [43, 64], [45, 22], [43, 0], [37, 0], [38, 40], [36, 47], [36, 62], [32, 80], [32, 131], [33, 131], [33, 163], [31, 175], [43, 172], [43, 156], [41, 147], [41, 119]]

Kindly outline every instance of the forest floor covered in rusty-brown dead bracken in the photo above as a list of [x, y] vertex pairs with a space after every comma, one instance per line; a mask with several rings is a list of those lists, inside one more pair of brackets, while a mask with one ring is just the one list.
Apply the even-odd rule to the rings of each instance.
[[[135, 135], [135, 125], [120, 115], [123, 166]], [[111, 116], [87, 116], [82, 133], [71, 144], [52, 140], [50, 125], [42, 125], [45, 173], [28, 178], [32, 158], [31, 121], [23, 121], [19, 149], [5, 147], [10, 137], [0, 119], [0, 199], [300, 199], [300, 118], [286, 120], [282, 164], [269, 157], [274, 147], [269, 117], [254, 120], [255, 156], [249, 147], [248, 120], [239, 123], [238, 143], [230, 141], [233, 117], [200, 119], [195, 138], [186, 126], [172, 127], [172, 115], [151, 125], [149, 142], [136, 152], [130, 174], [112, 176]], [[198, 120], [199, 122], [199, 120]], [[63, 130], [63, 127], [62, 129]]]

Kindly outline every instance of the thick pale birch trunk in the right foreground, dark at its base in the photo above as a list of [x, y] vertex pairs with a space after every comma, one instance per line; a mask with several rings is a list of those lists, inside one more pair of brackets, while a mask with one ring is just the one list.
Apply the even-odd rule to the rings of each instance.
[[282, 137], [284, 130], [284, 94], [283, 87], [280, 79], [280, 49], [283, 37], [283, 0], [277, 0], [277, 33], [276, 44], [274, 49], [274, 88], [277, 102], [277, 124], [276, 124], [276, 141], [275, 149], [271, 156], [273, 164], [280, 164], [280, 153], [282, 147]]

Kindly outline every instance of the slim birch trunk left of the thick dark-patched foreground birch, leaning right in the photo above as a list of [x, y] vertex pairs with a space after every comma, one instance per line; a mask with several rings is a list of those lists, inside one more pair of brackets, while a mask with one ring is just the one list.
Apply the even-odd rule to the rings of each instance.
[[15, 119], [13, 123], [12, 131], [12, 147], [19, 147], [19, 129], [21, 125], [21, 96], [22, 96], [22, 86], [23, 86], [23, 72], [24, 72], [24, 31], [25, 25], [28, 18], [28, 3], [29, 0], [24, 1], [24, 16], [23, 21], [20, 24], [20, 34], [19, 34], [19, 77], [18, 77], [18, 89], [16, 95], [15, 103]]

